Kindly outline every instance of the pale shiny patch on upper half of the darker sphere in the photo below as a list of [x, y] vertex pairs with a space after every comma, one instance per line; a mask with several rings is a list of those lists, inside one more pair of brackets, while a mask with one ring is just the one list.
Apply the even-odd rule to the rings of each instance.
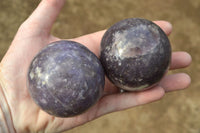
[[110, 55], [116, 58], [129, 58], [151, 52], [159, 44], [159, 31], [154, 25], [138, 25], [131, 31], [117, 31], [113, 35]]

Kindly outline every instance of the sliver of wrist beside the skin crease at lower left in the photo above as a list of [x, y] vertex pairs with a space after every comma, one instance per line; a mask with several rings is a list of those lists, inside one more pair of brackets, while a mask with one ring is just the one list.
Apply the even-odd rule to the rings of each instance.
[[10, 108], [0, 84], [0, 132], [15, 133]]

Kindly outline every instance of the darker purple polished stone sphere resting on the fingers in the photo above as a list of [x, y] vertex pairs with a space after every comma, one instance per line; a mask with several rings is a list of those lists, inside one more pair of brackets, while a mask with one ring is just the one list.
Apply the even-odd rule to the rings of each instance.
[[171, 46], [153, 22], [130, 18], [111, 26], [101, 42], [100, 60], [108, 78], [119, 88], [141, 91], [167, 72]]

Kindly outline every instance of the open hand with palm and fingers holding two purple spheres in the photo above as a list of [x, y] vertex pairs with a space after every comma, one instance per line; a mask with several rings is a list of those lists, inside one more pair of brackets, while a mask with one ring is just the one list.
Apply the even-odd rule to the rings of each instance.
[[[69, 130], [104, 114], [143, 105], [164, 96], [166, 92], [187, 88], [190, 77], [185, 73], [166, 75], [161, 82], [144, 92], [118, 93], [106, 79], [104, 96], [84, 114], [71, 118], [50, 116], [34, 103], [26, 87], [29, 64], [48, 43], [60, 38], [50, 34], [53, 23], [64, 6], [64, 0], [43, 0], [31, 16], [20, 26], [9, 50], [0, 64], [0, 83], [10, 108], [16, 132], [61, 132]], [[172, 26], [166, 21], [154, 21], [169, 35]], [[100, 41], [105, 31], [70, 39], [84, 44], [99, 56]], [[170, 69], [189, 66], [191, 56], [173, 52]]]

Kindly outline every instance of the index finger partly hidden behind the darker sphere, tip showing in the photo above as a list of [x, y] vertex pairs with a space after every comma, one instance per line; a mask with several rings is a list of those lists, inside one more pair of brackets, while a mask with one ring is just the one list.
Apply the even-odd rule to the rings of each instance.
[[[161, 29], [169, 35], [172, 32], [172, 25], [167, 21], [154, 21], [155, 24], [161, 27]], [[106, 30], [98, 31], [95, 33], [91, 33], [88, 35], [84, 35], [78, 38], [74, 38], [72, 40], [79, 42], [81, 44], [84, 44], [86, 47], [88, 47], [93, 53], [95, 53], [97, 56], [99, 56], [99, 48], [101, 39], [104, 35]]]

